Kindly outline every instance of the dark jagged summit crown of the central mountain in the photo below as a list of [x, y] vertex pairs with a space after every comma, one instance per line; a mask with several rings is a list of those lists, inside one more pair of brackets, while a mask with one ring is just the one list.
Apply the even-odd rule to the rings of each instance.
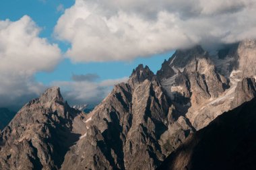
[[136, 69], [133, 69], [133, 73], [129, 77], [129, 83], [141, 83], [146, 79], [152, 81], [154, 77], [154, 73], [148, 66], [143, 67], [143, 65], [138, 65]]

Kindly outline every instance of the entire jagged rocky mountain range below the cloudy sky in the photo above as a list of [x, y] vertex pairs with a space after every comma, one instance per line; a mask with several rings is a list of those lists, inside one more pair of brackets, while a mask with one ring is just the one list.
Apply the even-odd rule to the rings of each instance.
[[[88, 114], [71, 108], [59, 87], [47, 89], [1, 132], [0, 169], [245, 165], [255, 140], [255, 54], [255, 40], [177, 50], [156, 75], [139, 65]], [[220, 137], [224, 142], [214, 142]]]

